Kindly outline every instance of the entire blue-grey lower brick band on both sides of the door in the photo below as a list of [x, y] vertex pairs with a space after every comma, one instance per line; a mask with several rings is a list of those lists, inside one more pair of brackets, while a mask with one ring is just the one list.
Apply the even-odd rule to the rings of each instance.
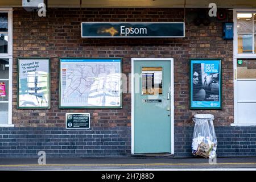
[[[0, 158], [130, 156], [130, 127], [0, 127]], [[175, 127], [175, 157], [192, 157], [193, 127]], [[217, 126], [217, 157], [255, 156], [255, 126]]]

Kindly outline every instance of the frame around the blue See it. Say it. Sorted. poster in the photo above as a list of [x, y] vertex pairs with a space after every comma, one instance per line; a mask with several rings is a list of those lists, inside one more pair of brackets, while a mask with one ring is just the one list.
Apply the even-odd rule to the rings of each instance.
[[[220, 84], [220, 92], [219, 92], [219, 102], [220, 102], [220, 106], [219, 107], [193, 107], [192, 106], [192, 61], [202, 61], [202, 63], [207, 63], [207, 61], [219, 61], [219, 84]], [[193, 110], [221, 110], [222, 109], [222, 59], [221, 58], [193, 58], [193, 59], [189, 59], [189, 109]], [[209, 101], [211, 102], [211, 101]]]

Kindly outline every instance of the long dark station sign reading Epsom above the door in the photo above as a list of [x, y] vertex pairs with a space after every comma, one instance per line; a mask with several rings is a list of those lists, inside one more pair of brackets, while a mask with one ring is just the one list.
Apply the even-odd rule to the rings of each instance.
[[83, 22], [82, 38], [184, 38], [184, 22]]

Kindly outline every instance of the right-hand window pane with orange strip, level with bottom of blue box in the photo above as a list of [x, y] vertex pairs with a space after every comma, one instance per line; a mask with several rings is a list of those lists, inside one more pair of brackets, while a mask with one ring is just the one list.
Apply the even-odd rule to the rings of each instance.
[[253, 35], [238, 35], [238, 53], [253, 53]]

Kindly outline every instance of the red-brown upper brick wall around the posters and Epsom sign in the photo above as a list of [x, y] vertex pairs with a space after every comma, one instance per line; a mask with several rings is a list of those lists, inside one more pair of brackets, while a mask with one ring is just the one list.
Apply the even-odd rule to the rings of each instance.
[[[187, 13], [189, 16], [189, 13]], [[232, 18], [232, 11], [229, 12]], [[82, 9], [82, 22], [183, 22], [183, 9]], [[232, 19], [231, 19], [232, 20]], [[88, 112], [91, 126], [130, 126], [131, 95], [123, 109], [59, 109], [59, 57], [123, 57], [123, 73], [131, 73], [131, 57], [173, 57], [175, 126], [191, 126], [196, 113], [216, 116], [214, 125], [233, 122], [233, 42], [222, 40], [222, 22], [209, 26], [185, 24], [185, 38], [81, 38], [80, 9], [49, 9], [39, 18], [22, 8], [13, 12], [13, 123], [15, 126], [65, 126], [65, 113]], [[51, 57], [51, 109], [16, 109], [17, 57]], [[189, 110], [189, 58], [222, 58], [222, 110]]]

